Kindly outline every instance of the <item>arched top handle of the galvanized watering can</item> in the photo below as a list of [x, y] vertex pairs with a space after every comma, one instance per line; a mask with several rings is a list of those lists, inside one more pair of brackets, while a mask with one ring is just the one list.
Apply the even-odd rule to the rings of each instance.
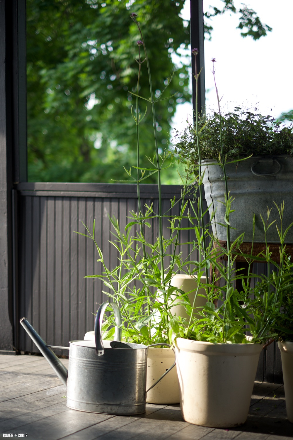
[[120, 326], [122, 325], [122, 317], [119, 307], [116, 303], [109, 303], [108, 301], [105, 301], [98, 308], [98, 312], [94, 322], [94, 338], [96, 342], [96, 355], [98, 356], [102, 356], [104, 354], [104, 345], [102, 341], [102, 322], [105, 310], [109, 305], [113, 309], [116, 323], [114, 341], [121, 341], [122, 329]]

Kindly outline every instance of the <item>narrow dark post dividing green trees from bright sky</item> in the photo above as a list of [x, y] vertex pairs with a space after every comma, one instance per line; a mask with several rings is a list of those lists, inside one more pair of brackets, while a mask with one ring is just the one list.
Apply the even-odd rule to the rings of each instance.
[[[206, 104], [205, 71], [204, 71], [204, 33], [203, 33], [203, 0], [190, 0], [190, 43], [191, 49], [199, 49], [196, 57], [199, 75], [198, 111], [201, 112]], [[195, 56], [192, 55], [192, 102], [195, 111]]]

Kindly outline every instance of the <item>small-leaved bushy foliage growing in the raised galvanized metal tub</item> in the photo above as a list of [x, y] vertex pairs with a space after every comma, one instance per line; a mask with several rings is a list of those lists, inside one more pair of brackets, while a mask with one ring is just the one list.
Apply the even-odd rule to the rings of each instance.
[[[221, 131], [220, 131], [221, 118]], [[233, 113], [220, 116], [199, 116], [199, 147], [204, 159], [218, 159], [221, 153], [220, 132], [223, 151], [228, 158], [245, 158], [250, 155], [293, 155], [293, 125], [282, 126], [271, 116], [262, 116], [236, 107]], [[196, 130], [189, 125], [176, 144], [176, 152], [182, 158], [198, 161]]]

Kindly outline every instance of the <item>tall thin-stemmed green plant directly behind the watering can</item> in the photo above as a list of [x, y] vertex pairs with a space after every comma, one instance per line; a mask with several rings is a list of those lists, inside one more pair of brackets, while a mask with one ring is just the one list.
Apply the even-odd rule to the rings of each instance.
[[[162, 190], [161, 190], [161, 171], [166, 168], [168, 154], [163, 156], [159, 154], [158, 136], [156, 130], [156, 110], [155, 105], [164, 99], [163, 93], [172, 80], [166, 79], [165, 88], [159, 95], [154, 95], [152, 89], [152, 77], [148, 61], [148, 53], [145, 41], [141, 33], [141, 27], [137, 22], [137, 14], [130, 15], [140, 33], [140, 40], [137, 40], [138, 46], [138, 77], [136, 92], [130, 92], [136, 100], [135, 106], [131, 108], [131, 114], [136, 125], [137, 138], [137, 164], [129, 170], [125, 170], [130, 181], [137, 184], [137, 202], [138, 212], [129, 213], [129, 223], [125, 230], [121, 231], [118, 220], [110, 218], [113, 232], [112, 246], [116, 248], [119, 254], [117, 266], [109, 269], [105, 264], [102, 251], [94, 238], [94, 229], [84, 225], [87, 230], [85, 235], [94, 240], [98, 250], [102, 273], [100, 275], [88, 275], [89, 278], [102, 279], [109, 292], [104, 292], [112, 301], [119, 304], [123, 317], [123, 337], [127, 341], [150, 344], [157, 342], [170, 342], [172, 332], [176, 328], [177, 321], [174, 320], [170, 308], [174, 303], [174, 295], [177, 299], [185, 295], [180, 289], [170, 285], [170, 280], [174, 273], [178, 271], [185, 263], [178, 253], [179, 233], [181, 230], [181, 220], [186, 217], [185, 211], [188, 205], [189, 186], [188, 174], [182, 180], [181, 197], [174, 197], [170, 201], [170, 209], [163, 212]], [[141, 57], [141, 48], [144, 50], [145, 57]], [[141, 68], [145, 62], [148, 80], [149, 80], [149, 98], [140, 95]], [[149, 167], [141, 167], [140, 163], [140, 124], [143, 121], [145, 112], [141, 112], [142, 102], [148, 103], [152, 109], [153, 121], [153, 145], [154, 156], [149, 157]], [[133, 172], [133, 169], [135, 172]], [[158, 182], [158, 212], [155, 212], [153, 205], [141, 205], [140, 184], [148, 176], [156, 174]], [[172, 208], [179, 204], [179, 213], [174, 216], [171, 213]], [[163, 235], [163, 218], [167, 218], [170, 224], [170, 237]], [[156, 220], [158, 224], [158, 236], [151, 242], [146, 240], [146, 228], [151, 228], [151, 223]], [[159, 293], [158, 293], [159, 292]], [[104, 329], [109, 329], [113, 324], [112, 318], [104, 324]], [[108, 331], [107, 337], [112, 337], [114, 329]]]

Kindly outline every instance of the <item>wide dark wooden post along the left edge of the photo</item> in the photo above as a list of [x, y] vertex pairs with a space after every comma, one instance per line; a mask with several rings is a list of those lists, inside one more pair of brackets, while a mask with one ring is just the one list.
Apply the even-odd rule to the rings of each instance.
[[14, 184], [26, 180], [25, 95], [25, 0], [3, 0], [0, 2], [0, 353], [7, 354], [15, 353]]

